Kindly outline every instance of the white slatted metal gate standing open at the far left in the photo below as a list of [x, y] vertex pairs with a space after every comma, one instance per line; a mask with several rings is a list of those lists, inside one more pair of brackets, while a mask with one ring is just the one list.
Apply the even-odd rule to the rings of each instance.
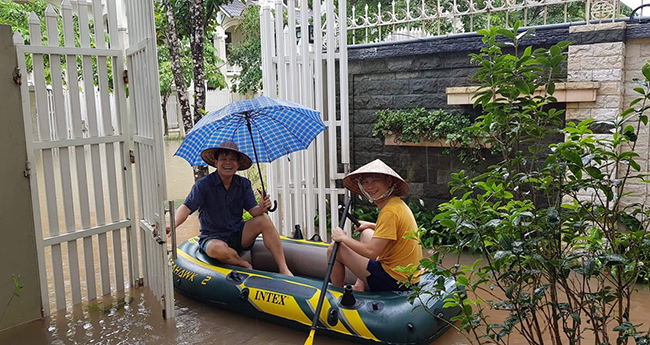
[[[69, 0], [61, 5], [61, 18], [48, 6], [45, 44], [40, 19], [33, 13], [29, 18], [30, 44], [25, 45], [20, 35], [14, 36], [22, 76], [28, 152], [25, 171], [32, 191], [45, 315], [52, 308], [63, 310], [142, 282], [130, 162], [131, 132], [123, 78], [125, 66], [115, 1], [105, 1], [105, 7], [101, 0], [92, 4], [79, 1], [76, 6], [76, 23]], [[153, 17], [151, 13], [149, 16]], [[63, 45], [58, 42], [59, 20]], [[155, 44], [153, 34], [149, 41]], [[156, 66], [155, 46], [153, 51], [150, 68]], [[33, 63], [32, 78], [28, 77], [28, 58]], [[157, 92], [157, 79], [149, 83]], [[30, 98], [31, 87], [34, 98]], [[95, 88], [99, 97], [94, 97]], [[132, 85], [132, 93], [133, 89]], [[69, 97], [64, 97], [66, 91]], [[49, 93], [52, 97], [48, 97]], [[131, 99], [131, 106], [136, 108], [140, 100]], [[146, 98], [145, 101], [151, 102]], [[160, 107], [152, 113], [159, 114]], [[162, 156], [163, 146], [155, 146], [153, 141], [151, 144], [150, 153]], [[160, 161], [148, 163], [153, 166]], [[151, 180], [164, 181], [164, 176], [151, 175]], [[164, 183], [162, 186], [164, 189]], [[155, 196], [160, 202], [150, 200], [162, 205], [162, 196], [164, 191]], [[164, 221], [160, 226], [164, 226]], [[152, 238], [151, 234], [148, 238]], [[165, 253], [165, 260], [155, 264], [170, 271], [166, 245], [158, 245], [156, 250]], [[143, 257], [144, 271], [154, 270], [150, 262]], [[125, 282], [127, 274], [128, 283]], [[162, 274], [158, 280], [162, 278], [169, 278], [171, 287], [170, 275]], [[173, 306], [173, 295], [168, 296], [172, 297], [165, 300], [166, 305], [171, 299]]]

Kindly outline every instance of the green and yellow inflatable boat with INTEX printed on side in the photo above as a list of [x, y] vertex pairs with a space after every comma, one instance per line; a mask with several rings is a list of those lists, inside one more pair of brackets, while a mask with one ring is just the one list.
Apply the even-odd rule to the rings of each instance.
[[[282, 246], [295, 277], [276, 273], [261, 238], [242, 256], [254, 269], [222, 264], [199, 250], [198, 237], [191, 238], [172, 259], [174, 288], [209, 305], [308, 331], [327, 271], [328, 245], [282, 237]], [[355, 279], [348, 272], [346, 283]], [[433, 285], [436, 279], [425, 275], [420, 285]], [[445, 297], [456, 291], [453, 279], [446, 279], [445, 289], [411, 304], [410, 292], [352, 292], [330, 284], [316, 334], [357, 343], [429, 344], [460, 312], [443, 308]]]

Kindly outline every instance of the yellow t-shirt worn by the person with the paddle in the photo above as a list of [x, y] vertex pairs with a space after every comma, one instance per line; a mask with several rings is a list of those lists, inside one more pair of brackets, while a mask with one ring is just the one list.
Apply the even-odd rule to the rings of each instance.
[[[418, 265], [422, 259], [422, 247], [413, 239], [404, 238], [409, 231], [415, 231], [418, 225], [411, 209], [399, 197], [391, 197], [384, 208], [379, 211], [374, 238], [390, 240], [384, 250], [377, 256], [384, 271], [398, 281], [407, 279], [407, 275], [394, 271], [397, 266]], [[412, 283], [417, 283], [419, 277]]]

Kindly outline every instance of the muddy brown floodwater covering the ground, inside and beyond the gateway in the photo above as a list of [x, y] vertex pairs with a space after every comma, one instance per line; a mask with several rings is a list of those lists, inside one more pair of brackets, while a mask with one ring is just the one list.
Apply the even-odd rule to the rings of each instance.
[[[182, 202], [193, 183], [192, 169], [173, 153], [180, 142], [166, 144], [168, 198]], [[178, 242], [198, 234], [196, 214], [178, 228]], [[450, 262], [455, 258], [449, 257]], [[474, 258], [462, 256], [461, 264], [471, 264]], [[165, 321], [155, 297], [147, 289], [129, 289], [126, 296], [115, 296], [72, 311], [53, 313], [44, 320], [34, 321], [0, 332], [0, 344], [303, 344], [309, 333], [280, 327], [209, 307], [181, 295], [175, 296], [176, 319]], [[650, 324], [650, 290], [639, 286], [633, 295], [634, 323]], [[499, 315], [492, 315], [499, 318]], [[340, 344], [316, 336], [315, 344]], [[432, 344], [469, 344], [464, 334], [450, 329]], [[513, 336], [511, 344], [526, 344]], [[585, 344], [593, 340], [585, 339]]]

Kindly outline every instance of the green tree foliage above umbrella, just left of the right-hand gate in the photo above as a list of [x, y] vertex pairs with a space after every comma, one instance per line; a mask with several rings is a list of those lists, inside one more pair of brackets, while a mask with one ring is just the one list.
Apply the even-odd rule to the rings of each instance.
[[262, 88], [262, 41], [260, 38], [260, 6], [246, 7], [240, 25], [244, 40], [230, 45], [228, 61], [242, 68], [234, 78], [232, 91], [256, 93]]

